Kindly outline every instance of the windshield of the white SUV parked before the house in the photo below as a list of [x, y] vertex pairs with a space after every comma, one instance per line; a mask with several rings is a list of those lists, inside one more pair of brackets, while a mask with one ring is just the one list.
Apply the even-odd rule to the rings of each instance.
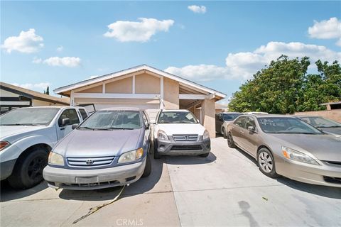
[[161, 112], [158, 123], [197, 123], [197, 119], [187, 111], [167, 111]]

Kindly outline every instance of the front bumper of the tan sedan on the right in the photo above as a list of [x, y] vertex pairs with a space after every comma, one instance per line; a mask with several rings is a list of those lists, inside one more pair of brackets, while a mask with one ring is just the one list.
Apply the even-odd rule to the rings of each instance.
[[276, 172], [279, 175], [305, 182], [331, 187], [341, 187], [341, 165], [328, 164], [310, 165], [275, 156]]

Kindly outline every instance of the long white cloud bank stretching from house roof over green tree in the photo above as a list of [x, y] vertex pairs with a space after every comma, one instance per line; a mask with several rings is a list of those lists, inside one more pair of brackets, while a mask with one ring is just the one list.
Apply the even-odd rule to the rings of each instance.
[[185, 67], [168, 67], [165, 71], [180, 77], [201, 81], [212, 79], [246, 80], [282, 54], [291, 58], [308, 56], [312, 64], [319, 59], [329, 62], [341, 60], [341, 52], [335, 52], [325, 48], [325, 46], [270, 42], [253, 52], [229, 53], [223, 67], [217, 65], [188, 65]]

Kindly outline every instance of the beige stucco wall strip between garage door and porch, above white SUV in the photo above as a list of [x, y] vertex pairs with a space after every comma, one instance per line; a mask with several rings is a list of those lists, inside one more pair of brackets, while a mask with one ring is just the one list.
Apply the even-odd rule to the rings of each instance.
[[163, 103], [165, 109], [179, 109], [179, 82], [163, 78]]

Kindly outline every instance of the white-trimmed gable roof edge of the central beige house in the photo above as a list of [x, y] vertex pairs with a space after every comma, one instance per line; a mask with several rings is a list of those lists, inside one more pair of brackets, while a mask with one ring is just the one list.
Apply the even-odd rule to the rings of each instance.
[[67, 86], [64, 86], [64, 87], [59, 87], [59, 88], [55, 89], [53, 92], [55, 92], [55, 94], [63, 94], [64, 92], [69, 92], [71, 90], [74, 90], [74, 89], [77, 89], [77, 88], [80, 88], [80, 87], [85, 87], [87, 85], [95, 84], [95, 83], [98, 83], [98, 82], [104, 82], [107, 79], [121, 77], [121, 76], [123, 76], [125, 74], [130, 74], [130, 73], [133, 73], [133, 72], [139, 72], [139, 71], [143, 71], [143, 70], [159, 74], [159, 75], [161, 75], [163, 77], [168, 77], [169, 79], [173, 79], [175, 81], [180, 82], [181, 84], [188, 85], [189, 87], [195, 87], [196, 89], [200, 89], [200, 90], [208, 92], [210, 94], [215, 94], [217, 96], [220, 96], [220, 98], [222, 98], [222, 99], [226, 96], [226, 94], [224, 94], [222, 92], [218, 92], [218, 91], [216, 91], [214, 89], [210, 89], [208, 87], [205, 87], [205, 86], [202, 86], [202, 85], [197, 84], [195, 82], [192, 82], [192, 81], [190, 81], [188, 79], [183, 79], [182, 77], [178, 77], [178, 76], [176, 76], [174, 74], [171, 74], [171, 73], [168, 73], [168, 72], [165, 72], [165, 71], [162, 71], [162, 70], [158, 70], [158, 69], [156, 69], [154, 67], [151, 67], [151, 66], [148, 66], [148, 65], [139, 65], [139, 66], [136, 66], [136, 67], [131, 67], [131, 68], [126, 69], [126, 70], [121, 70], [121, 71], [118, 71], [118, 72], [113, 72], [113, 73], [110, 73], [110, 74], [105, 74], [105, 75], [100, 76], [100, 77], [95, 77], [95, 78], [92, 78], [92, 79], [86, 79], [86, 80], [83, 80], [81, 82], [77, 82], [75, 84], [70, 84], [70, 85], [67, 85]]

